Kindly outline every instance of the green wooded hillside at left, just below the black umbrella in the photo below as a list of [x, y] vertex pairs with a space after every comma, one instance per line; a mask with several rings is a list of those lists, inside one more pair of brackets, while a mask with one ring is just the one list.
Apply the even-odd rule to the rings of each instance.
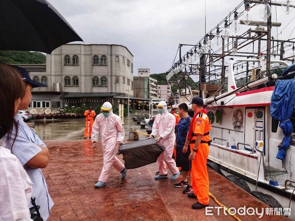
[[46, 55], [39, 52], [0, 51], [0, 61], [6, 64], [45, 64]]

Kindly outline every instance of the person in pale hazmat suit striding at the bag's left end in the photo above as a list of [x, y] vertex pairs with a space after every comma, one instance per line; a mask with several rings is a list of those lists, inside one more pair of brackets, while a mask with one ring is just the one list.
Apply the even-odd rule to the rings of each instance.
[[116, 157], [118, 147], [123, 143], [125, 131], [121, 118], [113, 113], [112, 108], [110, 102], [105, 102], [100, 109], [101, 113], [95, 118], [92, 126], [91, 141], [93, 142], [93, 150], [96, 150], [97, 140], [100, 137], [103, 152], [102, 171], [98, 183], [94, 185], [97, 188], [106, 185], [112, 166], [121, 172], [122, 179], [127, 174], [127, 169]]

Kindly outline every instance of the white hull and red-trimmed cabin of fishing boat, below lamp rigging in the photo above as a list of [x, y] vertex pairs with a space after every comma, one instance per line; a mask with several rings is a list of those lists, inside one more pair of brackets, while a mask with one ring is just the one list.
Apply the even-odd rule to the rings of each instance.
[[[204, 100], [212, 124], [208, 160], [226, 175], [244, 179], [252, 191], [275, 197], [283, 209], [291, 208], [289, 218], [295, 220], [295, 66], [271, 60], [270, 75], [259, 77], [266, 68], [265, 57], [259, 58], [232, 60], [227, 92]], [[241, 86], [234, 68], [239, 62], [253, 63]]]

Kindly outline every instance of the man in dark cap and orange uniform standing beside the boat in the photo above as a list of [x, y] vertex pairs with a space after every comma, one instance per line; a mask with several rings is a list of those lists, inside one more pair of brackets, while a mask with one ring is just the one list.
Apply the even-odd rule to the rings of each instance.
[[191, 104], [195, 115], [191, 120], [186, 144], [190, 142], [191, 153], [189, 155], [189, 160], [192, 161], [191, 176], [194, 192], [189, 193], [188, 197], [198, 199], [198, 202], [192, 205], [193, 209], [202, 209], [209, 205], [207, 157], [211, 142], [209, 136], [211, 124], [207, 116], [207, 110], [203, 109], [203, 99], [194, 97]]

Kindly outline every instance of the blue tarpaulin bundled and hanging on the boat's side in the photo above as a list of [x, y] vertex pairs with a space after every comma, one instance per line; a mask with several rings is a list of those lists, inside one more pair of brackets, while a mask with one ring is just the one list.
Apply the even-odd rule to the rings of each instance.
[[[293, 66], [293, 65], [291, 65]], [[287, 67], [283, 75], [290, 71], [290, 66]], [[280, 160], [285, 159], [286, 149], [290, 146], [291, 134], [293, 126], [290, 118], [294, 111], [295, 105], [295, 79], [280, 80], [276, 82], [270, 103], [271, 116], [280, 121], [279, 127], [283, 130], [284, 138], [282, 143], [278, 146], [279, 151], [276, 158]]]

